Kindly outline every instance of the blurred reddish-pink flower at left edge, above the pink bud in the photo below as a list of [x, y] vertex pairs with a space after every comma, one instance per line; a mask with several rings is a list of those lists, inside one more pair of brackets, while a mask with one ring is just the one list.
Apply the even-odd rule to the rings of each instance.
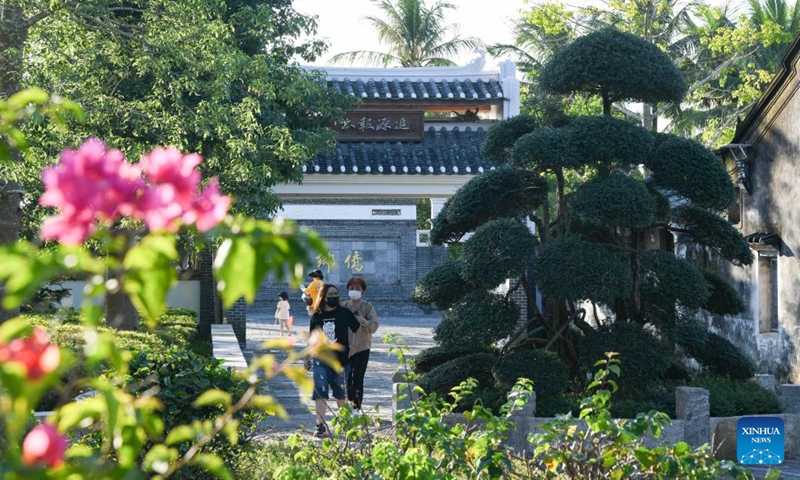
[[16, 338], [0, 344], [0, 362], [18, 363], [25, 368], [28, 380], [38, 380], [58, 368], [61, 350], [50, 343], [47, 333], [36, 328], [28, 338]]

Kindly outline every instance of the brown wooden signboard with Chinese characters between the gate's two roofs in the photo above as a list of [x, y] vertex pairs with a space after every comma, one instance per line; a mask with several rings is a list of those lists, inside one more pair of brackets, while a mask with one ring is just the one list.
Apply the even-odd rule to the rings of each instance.
[[422, 140], [424, 110], [354, 110], [334, 124], [336, 138], [347, 140]]

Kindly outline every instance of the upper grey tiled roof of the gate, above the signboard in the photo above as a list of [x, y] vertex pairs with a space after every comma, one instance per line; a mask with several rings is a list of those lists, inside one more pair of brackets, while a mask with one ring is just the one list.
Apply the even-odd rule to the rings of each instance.
[[487, 100], [503, 98], [503, 89], [497, 80], [398, 80], [349, 79], [328, 80], [328, 85], [338, 93], [362, 99], [380, 100]]

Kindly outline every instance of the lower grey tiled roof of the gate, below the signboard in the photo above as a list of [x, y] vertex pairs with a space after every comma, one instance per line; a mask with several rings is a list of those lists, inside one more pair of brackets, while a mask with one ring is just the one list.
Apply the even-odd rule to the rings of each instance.
[[329, 155], [315, 155], [307, 174], [464, 175], [494, 169], [479, 153], [486, 132], [429, 127], [421, 142], [339, 142]]

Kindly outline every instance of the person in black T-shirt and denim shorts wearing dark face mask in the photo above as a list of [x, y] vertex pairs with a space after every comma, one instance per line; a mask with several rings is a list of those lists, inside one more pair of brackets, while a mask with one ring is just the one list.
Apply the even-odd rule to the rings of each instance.
[[[338, 343], [344, 347], [340, 352], [336, 352], [342, 368], [349, 363], [350, 353], [350, 332], [356, 332], [361, 324], [356, 320], [350, 310], [343, 308], [339, 304], [339, 289], [335, 285], [327, 284], [322, 287], [320, 292], [319, 307], [311, 317], [309, 333], [319, 329], [329, 342]], [[346, 379], [344, 370], [337, 372], [333, 367], [322, 363], [318, 359], [313, 359], [312, 369], [314, 374], [314, 392], [311, 398], [317, 410], [317, 429], [315, 437], [327, 435], [325, 426], [325, 410], [330, 393], [336, 399], [336, 405], [341, 408], [347, 398]]]

